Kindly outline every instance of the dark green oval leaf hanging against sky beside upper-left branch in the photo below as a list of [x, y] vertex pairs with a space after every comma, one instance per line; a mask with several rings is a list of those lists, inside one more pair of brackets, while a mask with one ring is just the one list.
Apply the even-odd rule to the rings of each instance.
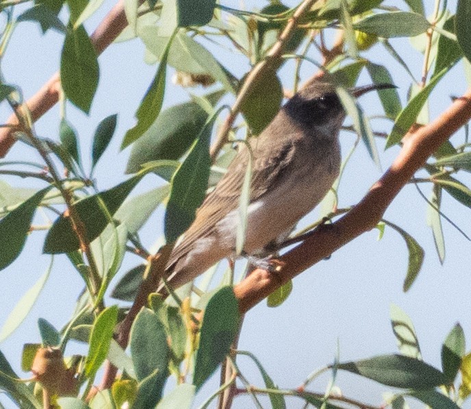
[[68, 30], [66, 34], [60, 59], [60, 79], [66, 97], [88, 114], [97, 91], [99, 66], [97, 53], [83, 25]]

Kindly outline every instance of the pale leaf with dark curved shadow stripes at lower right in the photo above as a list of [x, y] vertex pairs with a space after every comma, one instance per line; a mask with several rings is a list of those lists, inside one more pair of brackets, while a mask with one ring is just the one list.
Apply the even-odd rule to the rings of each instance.
[[396, 337], [400, 353], [421, 360], [422, 354], [420, 353], [419, 340], [412, 320], [394, 304], [390, 306], [390, 317], [392, 332], [394, 332]]

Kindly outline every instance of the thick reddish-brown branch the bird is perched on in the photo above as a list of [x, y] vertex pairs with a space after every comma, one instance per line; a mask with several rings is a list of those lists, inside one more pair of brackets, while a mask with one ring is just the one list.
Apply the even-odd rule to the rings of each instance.
[[396, 160], [368, 194], [342, 219], [314, 232], [305, 242], [280, 258], [281, 271], [270, 274], [256, 269], [234, 288], [242, 313], [250, 310], [274, 290], [296, 275], [329, 257], [360, 234], [377, 225], [394, 197], [413, 174], [461, 126], [471, 119], [471, 88], [456, 99], [439, 118], [416, 129], [403, 139]]

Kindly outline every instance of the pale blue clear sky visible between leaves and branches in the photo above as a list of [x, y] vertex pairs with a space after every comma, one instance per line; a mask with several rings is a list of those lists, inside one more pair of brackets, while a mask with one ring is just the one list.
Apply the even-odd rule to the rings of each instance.
[[[237, 1], [227, 0], [223, 3], [234, 8], [240, 7]], [[407, 10], [404, 1], [390, 0], [385, 3]], [[431, 14], [434, 2], [424, 3], [427, 13]], [[247, 1], [246, 8], [253, 10], [254, 4], [255, 1]], [[288, 5], [292, 4], [294, 2]], [[112, 5], [114, 1], [106, 0], [97, 14], [87, 21], [86, 28], [89, 33]], [[264, 2], [259, 2], [260, 8], [263, 5]], [[448, 9], [454, 13], [455, 8], [456, 1], [448, 1]], [[2, 60], [1, 68], [5, 82], [20, 86], [26, 98], [33, 95], [58, 70], [62, 41], [62, 35], [56, 32], [49, 31], [43, 36], [35, 23], [18, 25]], [[407, 39], [392, 40], [392, 44], [398, 47], [415, 77], [420, 79], [422, 54], [413, 49]], [[214, 47], [209, 49], [216, 50]], [[241, 77], [249, 69], [244, 59], [237, 54], [217, 50], [216, 57], [237, 77]], [[112, 45], [99, 58], [101, 76], [90, 116], [86, 116], [71, 104], [67, 105], [67, 119], [77, 129], [85, 166], [90, 164], [88, 152], [95, 127], [105, 116], [118, 113], [118, 128], [114, 141], [95, 171], [100, 189], [114, 186], [124, 178], [130, 149], [120, 152], [119, 145], [127, 129], [135, 123], [134, 113], [156, 70], [156, 66], [144, 63], [143, 55], [144, 46], [138, 39]], [[410, 85], [405, 71], [392, 61], [381, 45], [375, 45], [366, 55], [373, 62], [385, 64], [388, 68], [394, 67], [391, 69], [394, 82], [399, 86], [401, 101], [405, 103]], [[288, 63], [280, 73], [283, 84], [288, 89], [292, 86], [292, 69], [293, 64]], [[312, 73], [314, 66], [304, 64], [303, 77], [306, 79]], [[173, 69], [169, 69], [164, 106], [188, 100], [186, 90], [171, 84], [172, 75]], [[369, 82], [368, 75], [363, 73], [359, 83]], [[451, 95], [459, 96], [466, 88], [460, 63], [435, 88], [429, 107], [431, 118], [435, 118], [449, 106]], [[368, 114], [381, 114], [377, 95], [368, 95], [360, 102]], [[8, 106], [2, 104], [1, 121], [5, 121], [9, 115]], [[59, 119], [59, 109], [56, 106], [38, 121], [37, 133], [57, 140]], [[346, 123], [349, 122], [347, 119]], [[385, 121], [372, 121], [374, 130], [389, 131], [390, 126], [391, 124]], [[355, 135], [342, 132], [340, 139], [345, 156], [355, 141]], [[453, 140], [461, 143], [463, 132], [458, 132]], [[383, 140], [377, 140], [377, 143], [381, 164], [385, 170], [394, 160], [399, 148], [392, 147], [384, 152]], [[18, 143], [6, 160], [40, 161], [40, 158], [31, 148]], [[365, 147], [360, 145], [349, 162], [340, 185], [340, 207], [357, 203], [380, 176], [381, 171], [370, 160]], [[469, 186], [469, 177], [460, 175], [459, 178]], [[2, 177], [1, 180], [7, 180], [13, 186], [42, 186], [12, 177]], [[159, 183], [156, 177], [146, 177], [133, 194], [150, 190]], [[424, 185], [422, 189], [428, 195], [431, 186]], [[240, 349], [253, 352], [280, 387], [295, 388], [311, 371], [333, 362], [338, 344], [341, 360], [357, 360], [377, 354], [394, 353], [397, 350], [396, 340], [389, 318], [390, 305], [394, 303], [405, 310], [413, 320], [424, 360], [440, 368], [441, 345], [453, 325], [461, 323], [468, 340], [471, 337], [471, 243], [450, 224], [444, 222], [446, 260], [442, 266], [435, 253], [431, 230], [426, 224], [426, 210], [427, 203], [411, 185], [401, 191], [385, 213], [385, 219], [403, 227], [425, 250], [422, 271], [408, 293], [403, 293], [402, 290], [407, 271], [405, 242], [390, 228], [386, 228], [384, 237], [378, 241], [378, 232], [374, 230], [353, 240], [335, 252], [329, 260], [319, 262], [297, 277], [292, 294], [279, 308], [268, 308], [266, 302], [253, 308], [244, 320]], [[442, 211], [466, 233], [471, 234], [470, 209], [459, 205], [444, 193]], [[160, 209], [142, 230], [141, 237], [147, 246], [151, 246], [162, 236], [162, 216], [163, 211]], [[315, 210], [307, 220], [315, 221], [317, 216]], [[44, 219], [39, 217], [36, 221], [43, 223]], [[41, 253], [43, 240], [43, 233], [32, 234], [21, 257], [0, 272], [0, 325], [8, 317], [16, 301], [46, 271], [50, 259]], [[127, 257], [117, 278], [136, 262], [136, 257]], [[80, 277], [73, 271], [66, 257], [55, 257], [49, 282], [36, 306], [23, 325], [0, 344], [1, 351], [18, 373], [21, 373], [23, 344], [40, 341], [36, 324], [38, 318], [47, 319], [55, 327], [62, 327], [71, 317], [75, 300], [82, 288]], [[114, 302], [116, 301], [108, 300], [109, 305]], [[471, 341], [468, 345], [467, 351], [470, 350]], [[73, 354], [77, 351], [84, 353], [86, 349], [81, 345], [71, 344], [66, 353]], [[244, 357], [240, 358], [239, 362], [249, 381], [262, 386], [263, 382], [255, 366]], [[328, 375], [321, 377], [311, 385], [311, 389], [323, 393], [328, 380]], [[199, 403], [216, 390], [217, 382], [217, 379], [213, 379], [203, 388], [197, 399]], [[390, 391], [390, 388], [343, 373], [338, 376], [338, 386], [347, 397], [363, 399], [366, 403], [376, 405], [382, 402], [381, 393]], [[4, 395], [0, 395], [0, 402], [6, 407], [14, 407]], [[302, 406], [301, 401], [289, 401], [290, 408]], [[249, 398], [236, 399], [234, 408], [246, 407], [251, 407]], [[411, 407], [419, 408], [423, 405], [412, 402]]]

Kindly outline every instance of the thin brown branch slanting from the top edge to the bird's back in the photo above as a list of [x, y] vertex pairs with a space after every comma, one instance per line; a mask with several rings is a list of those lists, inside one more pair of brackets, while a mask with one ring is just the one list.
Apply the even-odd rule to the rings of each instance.
[[229, 135], [229, 131], [231, 127], [236, 121], [236, 117], [240, 112], [240, 108], [242, 103], [246, 100], [249, 96], [249, 92], [255, 82], [257, 82], [265, 73], [270, 70], [277, 69], [277, 67], [281, 64], [281, 55], [283, 55], [283, 51], [285, 49], [286, 43], [290, 40], [293, 35], [294, 29], [296, 29], [298, 25], [298, 21], [307, 13], [312, 5], [316, 3], [317, 0], [304, 0], [301, 5], [296, 9], [293, 16], [288, 21], [285, 29], [279, 36], [275, 45], [268, 51], [266, 58], [259, 62], [257, 65], [253, 67], [250, 71], [249, 75], [247, 75], [244, 84], [240, 88], [240, 91], [237, 95], [236, 101], [233, 103], [231, 108], [231, 113], [227, 116], [224, 123], [222, 123], [218, 136], [216, 138], [216, 142], [211, 147], [211, 157], [214, 160], [218, 155], [220, 149], [223, 145], [227, 142], [227, 136]]

